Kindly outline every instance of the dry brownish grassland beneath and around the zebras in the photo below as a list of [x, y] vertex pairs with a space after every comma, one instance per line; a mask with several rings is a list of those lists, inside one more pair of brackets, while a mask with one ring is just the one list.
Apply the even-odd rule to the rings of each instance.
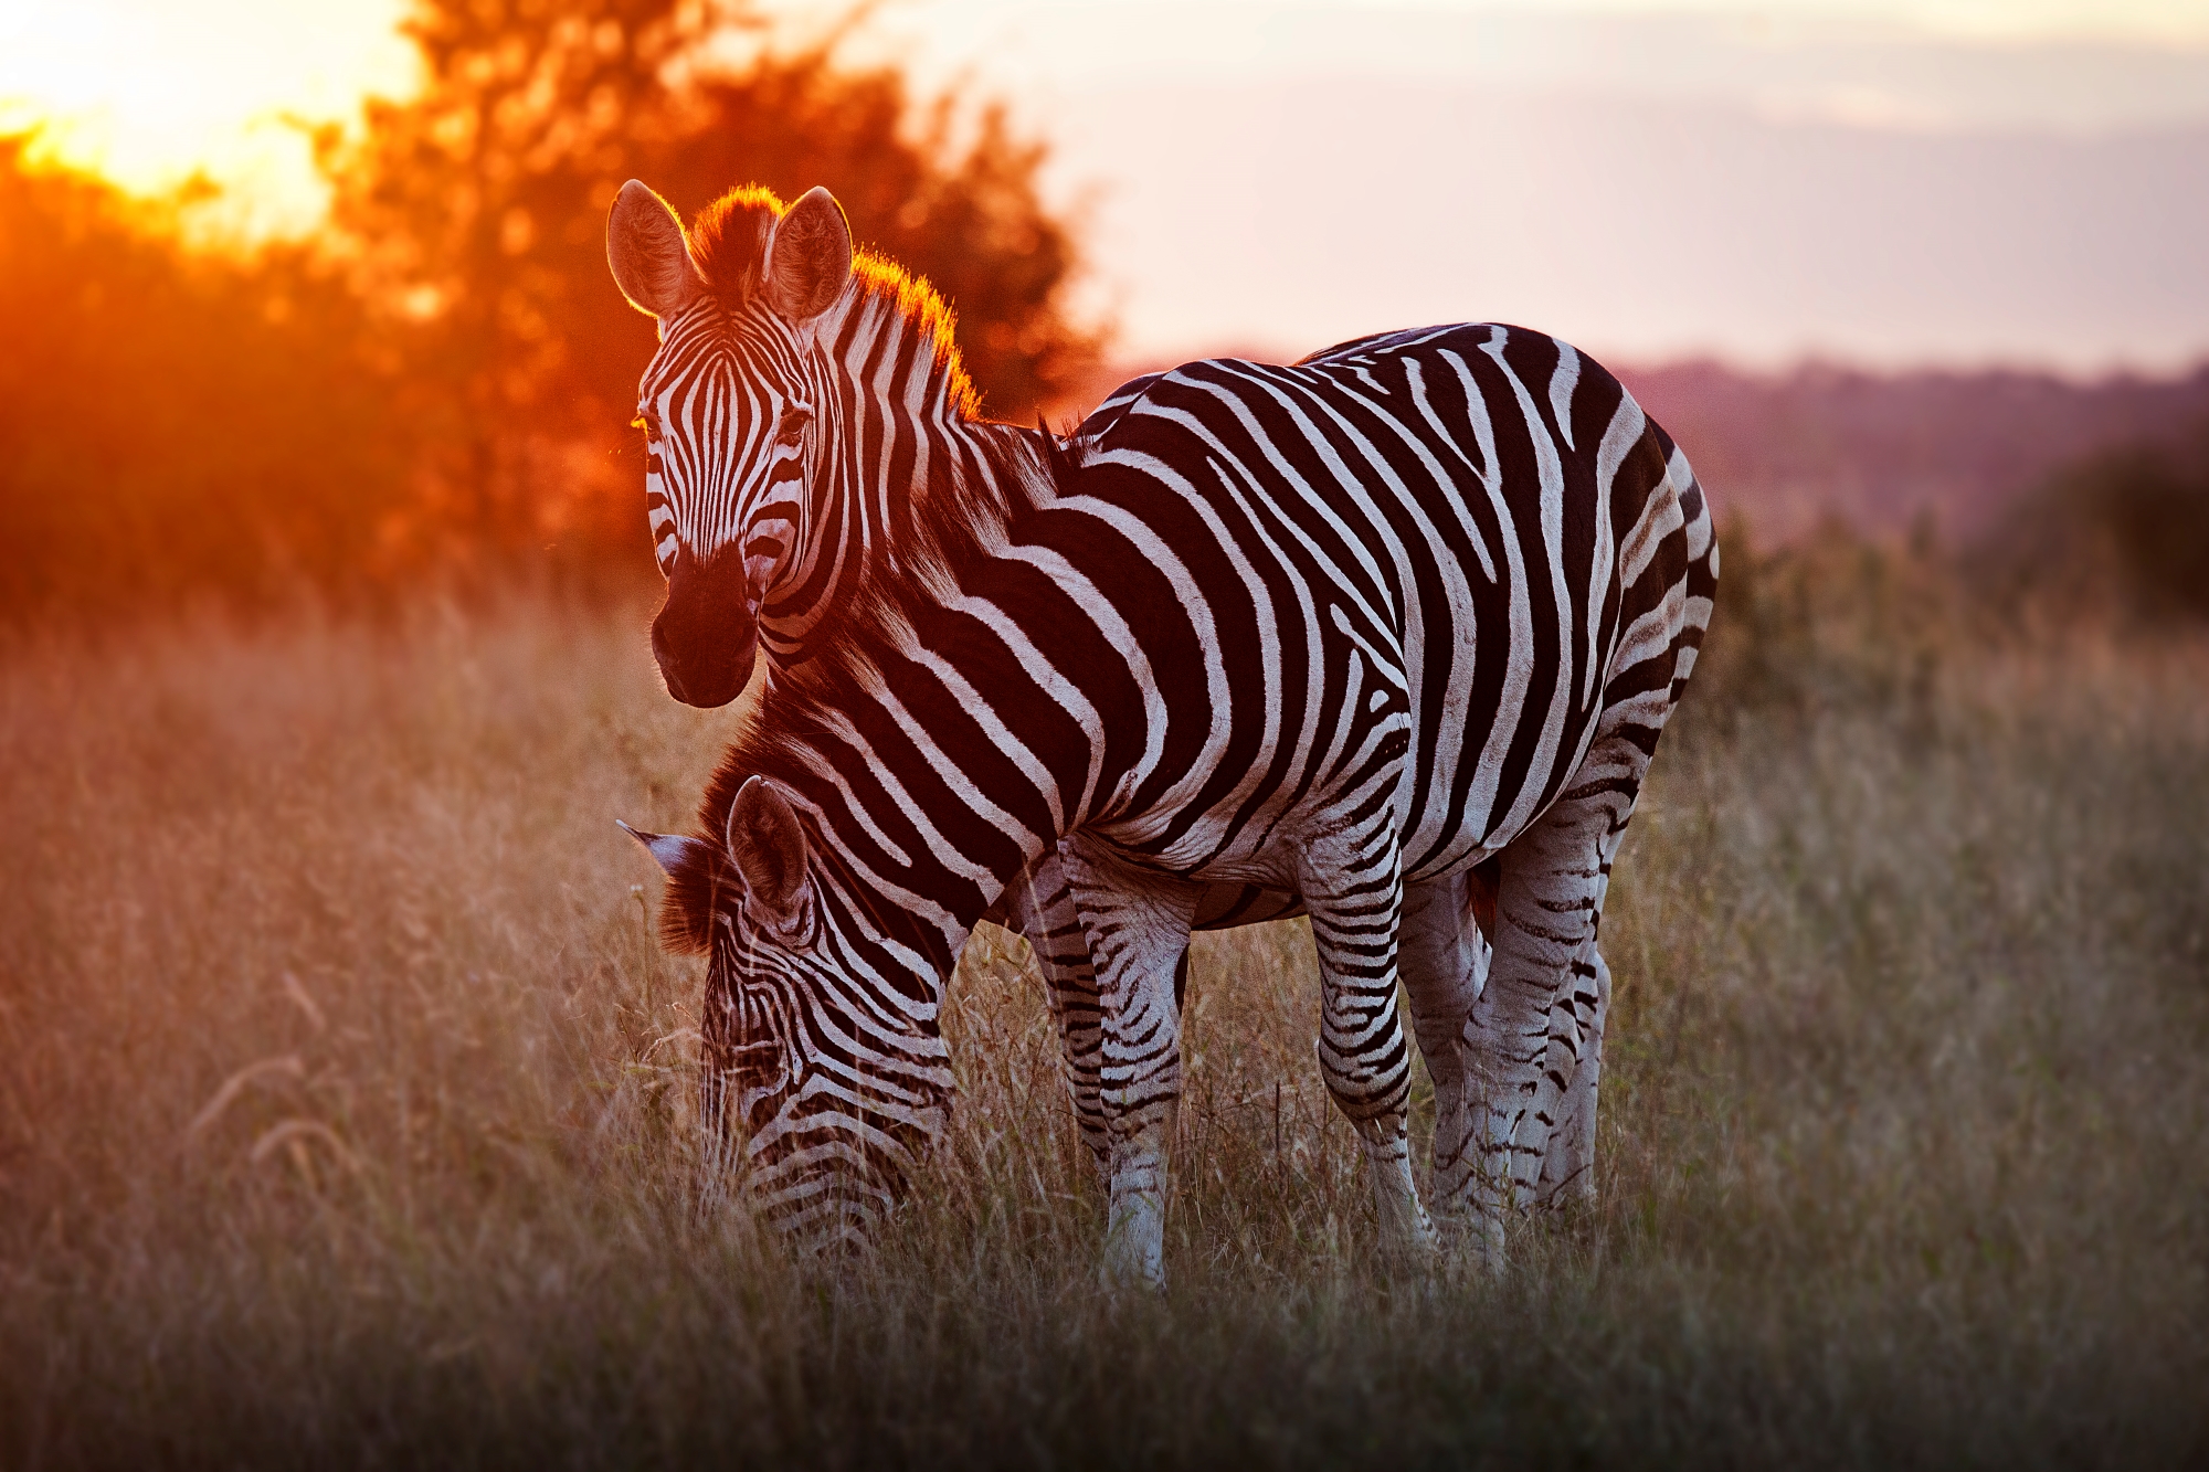
[[1599, 1205], [1374, 1266], [1308, 935], [1204, 937], [1158, 1302], [994, 930], [875, 1255], [700, 1191], [638, 610], [20, 643], [0, 1465], [2200, 1465], [2209, 648], [1827, 561], [1628, 835]]

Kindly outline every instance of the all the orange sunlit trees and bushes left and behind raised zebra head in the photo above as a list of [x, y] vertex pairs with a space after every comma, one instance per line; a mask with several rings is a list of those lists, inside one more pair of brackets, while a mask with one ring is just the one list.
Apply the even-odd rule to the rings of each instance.
[[826, 183], [956, 305], [994, 416], [1093, 358], [1043, 146], [996, 108], [775, 46], [744, 0], [415, 0], [409, 33], [422, 93], [316, 137], [314, 241], [192, 250], [188, 197], [0, 137], [0, 621], [649, 577], [654, 332], [603, 254], [630, 177], [685, 214]]

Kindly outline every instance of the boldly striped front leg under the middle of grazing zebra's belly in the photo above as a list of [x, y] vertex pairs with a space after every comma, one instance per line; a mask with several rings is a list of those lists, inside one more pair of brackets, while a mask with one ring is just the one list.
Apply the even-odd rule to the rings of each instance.
[[1396, 835], [1376, 829], [1306, 849], [1299, 891], [1319, 948], [1319, 1072], [1365, 1145], [1381, 1242], [1431, 1251], [1434, 1222], [1412, 1182], [1412, 1052], [1396, 1010], [1403, 880]]

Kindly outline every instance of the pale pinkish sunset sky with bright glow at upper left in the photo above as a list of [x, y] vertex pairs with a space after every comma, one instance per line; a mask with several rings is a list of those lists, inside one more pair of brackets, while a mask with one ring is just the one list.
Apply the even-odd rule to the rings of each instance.
[[[409, 91], [400, 13], [0, 0], [0, 126], [311, 228], [285, 117]], [[1127, 358], [1454, 318], [1637, 362], [2209, 356], [2209, 0], [884, 0], [857, 53], [1051, 141]]]

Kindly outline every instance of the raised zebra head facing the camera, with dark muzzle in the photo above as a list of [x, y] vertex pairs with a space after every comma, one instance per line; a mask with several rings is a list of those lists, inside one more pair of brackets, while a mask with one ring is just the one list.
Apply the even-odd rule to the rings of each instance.
[[784, 210], [749, 188], [685, 232], [630, 179], [605, 221], [605, 259], [660, 325], [636, 396], [645, 513], [667, 577], [652, 652], [674, 698], [727, 705], [751, 679], [760, 606], [804, 559], [813, 424], [833, 411], [813, 338], [850, 281], [850, 228], [828, 190]]

